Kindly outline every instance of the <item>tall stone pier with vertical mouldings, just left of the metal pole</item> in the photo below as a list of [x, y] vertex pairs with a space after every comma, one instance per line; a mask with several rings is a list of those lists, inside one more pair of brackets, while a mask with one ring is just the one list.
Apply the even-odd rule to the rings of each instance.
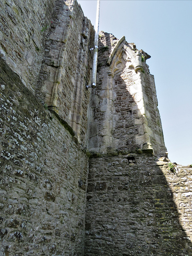
[[84, 144], [94, 29], [76, 1], [56, 0], [36, 95], [66, 120]]

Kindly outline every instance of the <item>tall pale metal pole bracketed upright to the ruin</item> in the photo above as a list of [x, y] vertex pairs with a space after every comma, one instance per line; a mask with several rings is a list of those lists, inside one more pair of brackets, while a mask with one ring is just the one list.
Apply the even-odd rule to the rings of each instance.
[[96, 13], [96, 22], [95, 22], [95, 39], [94, 39], [94, 55], [93, 55], [93, 70], [92, 70], [92, 88], [96, 87], [96, 78], [97, 78], [99, 14], [100, 14], [100, 0], [97, 0], [97, 13]]

